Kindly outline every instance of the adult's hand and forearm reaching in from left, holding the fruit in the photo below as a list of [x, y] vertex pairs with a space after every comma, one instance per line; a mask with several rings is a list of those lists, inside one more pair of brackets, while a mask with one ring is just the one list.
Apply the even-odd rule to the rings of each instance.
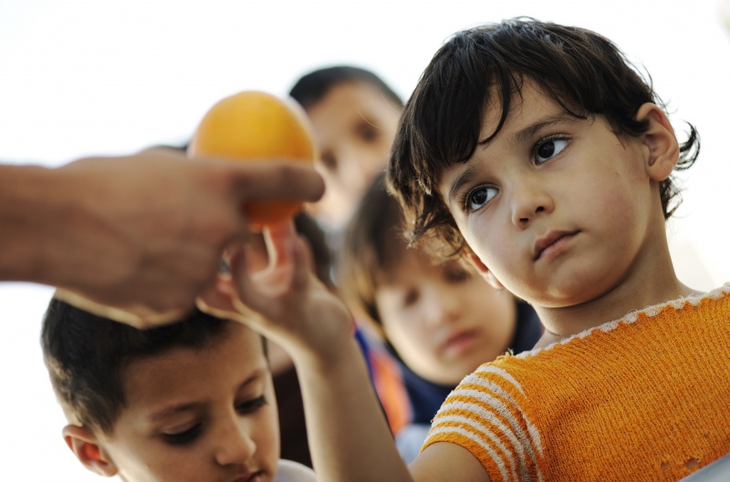
[[166, 323], [214, 282], [224, 249], [249, 236], [242, 203], [313, 201], [323, 190], [301, 165], [201, 162], [173, 149], [0, 166], [0, 281], [56, 286], [138, 327]]

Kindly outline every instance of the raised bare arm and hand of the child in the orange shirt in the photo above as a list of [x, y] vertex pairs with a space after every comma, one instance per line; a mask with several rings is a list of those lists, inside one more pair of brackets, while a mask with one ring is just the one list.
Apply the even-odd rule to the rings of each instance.
[[[292, 226], [266, 231], [268, 267], [254, 250], [233, 257], [203, 310], [233, 317], [280, 344], [297, 366], [309, 446], [322, 482], [488, 482], [467, 450], [434, 444], [406, 467], [398, 454], [352, 337], [352, 317], [308, 269], [308, 251]], [[238, 313], [238, 314], [233, 314]]]

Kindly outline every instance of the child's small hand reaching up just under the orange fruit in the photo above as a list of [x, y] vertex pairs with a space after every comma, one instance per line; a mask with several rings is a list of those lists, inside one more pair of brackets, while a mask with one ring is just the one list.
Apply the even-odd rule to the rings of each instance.
[[265, 247], [248, 243], [231, 256], [231, 276], [221, 276], [200, 308], [251, 326], [293, 357], [327, 358], [351, 336], [348, 309], [314, 276], [291, 221], [266, 228], [264, 238]]

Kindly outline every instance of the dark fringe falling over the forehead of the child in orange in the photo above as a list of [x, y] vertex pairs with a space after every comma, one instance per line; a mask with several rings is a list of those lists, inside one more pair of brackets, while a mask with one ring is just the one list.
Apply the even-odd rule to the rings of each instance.
[[[437, 190], [443, 170], [470, 159], [481, 143], [499, 134], [527, 83], [572, 116], [606, 110], [605, 86], [591, 85], [582, 62], [556, 33], [526, 40], [509, 29], [490, 35], [482, 30], [463, 32], [443, 46], [406, 108], [412, 169], [429, 194]], [[499, 109], [499, 120], [482, 136], [486, 109], [493, 108]]]

